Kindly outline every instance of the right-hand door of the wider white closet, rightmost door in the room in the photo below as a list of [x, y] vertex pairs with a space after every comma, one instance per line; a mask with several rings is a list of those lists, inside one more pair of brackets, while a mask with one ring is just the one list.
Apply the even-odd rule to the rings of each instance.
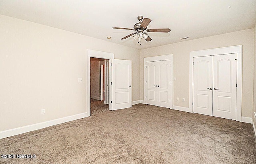
[[213, 116], [236, 119], [236, 54], [213, 58]]

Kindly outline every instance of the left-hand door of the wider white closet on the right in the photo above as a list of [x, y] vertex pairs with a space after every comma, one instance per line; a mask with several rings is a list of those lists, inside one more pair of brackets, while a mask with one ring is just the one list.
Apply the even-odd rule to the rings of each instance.
[[212, 56], [194, 57], [194, 113], [212, 115], [212, 59]]

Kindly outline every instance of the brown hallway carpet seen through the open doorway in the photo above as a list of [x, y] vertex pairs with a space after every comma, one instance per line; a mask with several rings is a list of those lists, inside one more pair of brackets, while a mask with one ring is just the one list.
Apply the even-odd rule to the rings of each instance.
[[109, 105], [104, 104], [104, 101], [91, 98], [91, 115], [96, 115], [109, 110]]

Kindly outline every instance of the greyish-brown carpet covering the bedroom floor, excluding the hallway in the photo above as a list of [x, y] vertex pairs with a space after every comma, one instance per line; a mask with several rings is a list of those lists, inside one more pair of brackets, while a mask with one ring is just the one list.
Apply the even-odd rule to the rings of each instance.
[[254, 164], [252, 124], [138, 104], [0, 140], [1, 164]]

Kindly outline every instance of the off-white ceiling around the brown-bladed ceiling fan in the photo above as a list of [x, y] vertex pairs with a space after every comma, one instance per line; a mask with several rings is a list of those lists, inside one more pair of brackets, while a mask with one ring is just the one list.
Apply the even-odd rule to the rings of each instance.
[[[0, 14], [145, 49], [253, 28], [256, 0], [0, 0]], [[133, 28], [138, 16], [172, 31], [148, 33], [152, 41], [142, 45], [121, 40], [134, 31], [112, 27]]]

